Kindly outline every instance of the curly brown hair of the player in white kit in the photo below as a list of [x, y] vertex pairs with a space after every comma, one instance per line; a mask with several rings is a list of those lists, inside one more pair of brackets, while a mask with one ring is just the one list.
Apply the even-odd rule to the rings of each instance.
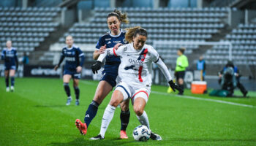
[[146, 29], [141, 28], [140, 26], [135, 26], [133, 28], [126, 28], [127, 33], [125, 34], [125, 39], [128, 42], [132, 42], [133, 37], [136, 37], [137, 34], [148, 37]]

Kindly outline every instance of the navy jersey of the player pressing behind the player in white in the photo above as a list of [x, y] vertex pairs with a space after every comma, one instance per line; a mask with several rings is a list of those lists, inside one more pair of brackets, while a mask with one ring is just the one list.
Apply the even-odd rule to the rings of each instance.
[[[115, 47], [118, 43], [127, 44], [125, 40], [125, 33], [126, 31], [121, 29], [120, 34], [114, 36], [110, 31], [108, 31], [108, 33], [99, 38], [96, 49], [99, 50], [99, 48], [104, 45], [106, 45], [107, 48], [110, 48]], [[120, 63], [121, 61], [119, 56], [116, 57], [115, 55], [108, 55], [106, 57], [105, 69], [103, 72], [118, 72], [118, 66]]]

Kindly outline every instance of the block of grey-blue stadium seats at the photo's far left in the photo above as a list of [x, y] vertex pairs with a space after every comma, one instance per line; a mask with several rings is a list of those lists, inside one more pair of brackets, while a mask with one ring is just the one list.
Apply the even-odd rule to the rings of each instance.
[[0, 7], [0, 50], [10, 39], [18, 55], [34, 51], [59, 26], [54, 18], [60, 11], [56, 7]]

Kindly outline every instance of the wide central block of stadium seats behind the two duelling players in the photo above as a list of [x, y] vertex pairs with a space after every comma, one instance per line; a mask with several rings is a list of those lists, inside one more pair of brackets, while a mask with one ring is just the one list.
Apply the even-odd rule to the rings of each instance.
[[[227, 19], [227, 8], [159, 8], [151, 9], [147, 7], [122, 7], [122, 12], [127, 12], [130, 24], [129, 26], [142, 26], [148, 31], [147, 43], [153, 45], [155, 40], [173, 40], [173, 41], [208, 41], [214, 34], [218, 34], [225, 28], [225, 19]], [[71, 34], [75, 43], [95, 45], [102, 34], [108, 31], [106, 16], [108, 12], [113, 11], [110, 8], [94, 9], [94, 17], [90, 18], [88, 23], [75, 23], [69, 31], [64, 34]], [[63, 44], [64, 37], [59, 39]], [[158, 46], [157, 50], [170, 64], [176, 60], [177, 45], [174, 49], [165, 45]], [[188, 45], [186, 54], [192, 53], [198, 48], [198, 45]], [[60, 48], [61, 49], [61, 48]], [[92, 54], [91, 54], [92, 55]], [[89, 59], [91, 61], [91, 55]]]

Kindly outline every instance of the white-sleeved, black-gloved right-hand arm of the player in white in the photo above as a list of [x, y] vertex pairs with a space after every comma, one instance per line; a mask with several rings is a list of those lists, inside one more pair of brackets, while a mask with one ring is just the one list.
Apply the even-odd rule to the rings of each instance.
[[174, 92], [176, 91], [176, 89], [179, 92], [183, 92], [183, 90], [173, 82], [173, 77], [171, 77], [170, 72], [167, 69], [167, 66], [165, 65], [165, 63], [160, 58], [159, 54], [157, 53], [157, 50], [152, 49], [152, 51], [151, 51], [151, 61], [154, 61], [154, 63], [157, 64], [157, 66], [161, 70], [162, 74], [165, 75], [165, 79], [168, 81], [168, 83], [170, 85], [170, 88], [172, 88]]

